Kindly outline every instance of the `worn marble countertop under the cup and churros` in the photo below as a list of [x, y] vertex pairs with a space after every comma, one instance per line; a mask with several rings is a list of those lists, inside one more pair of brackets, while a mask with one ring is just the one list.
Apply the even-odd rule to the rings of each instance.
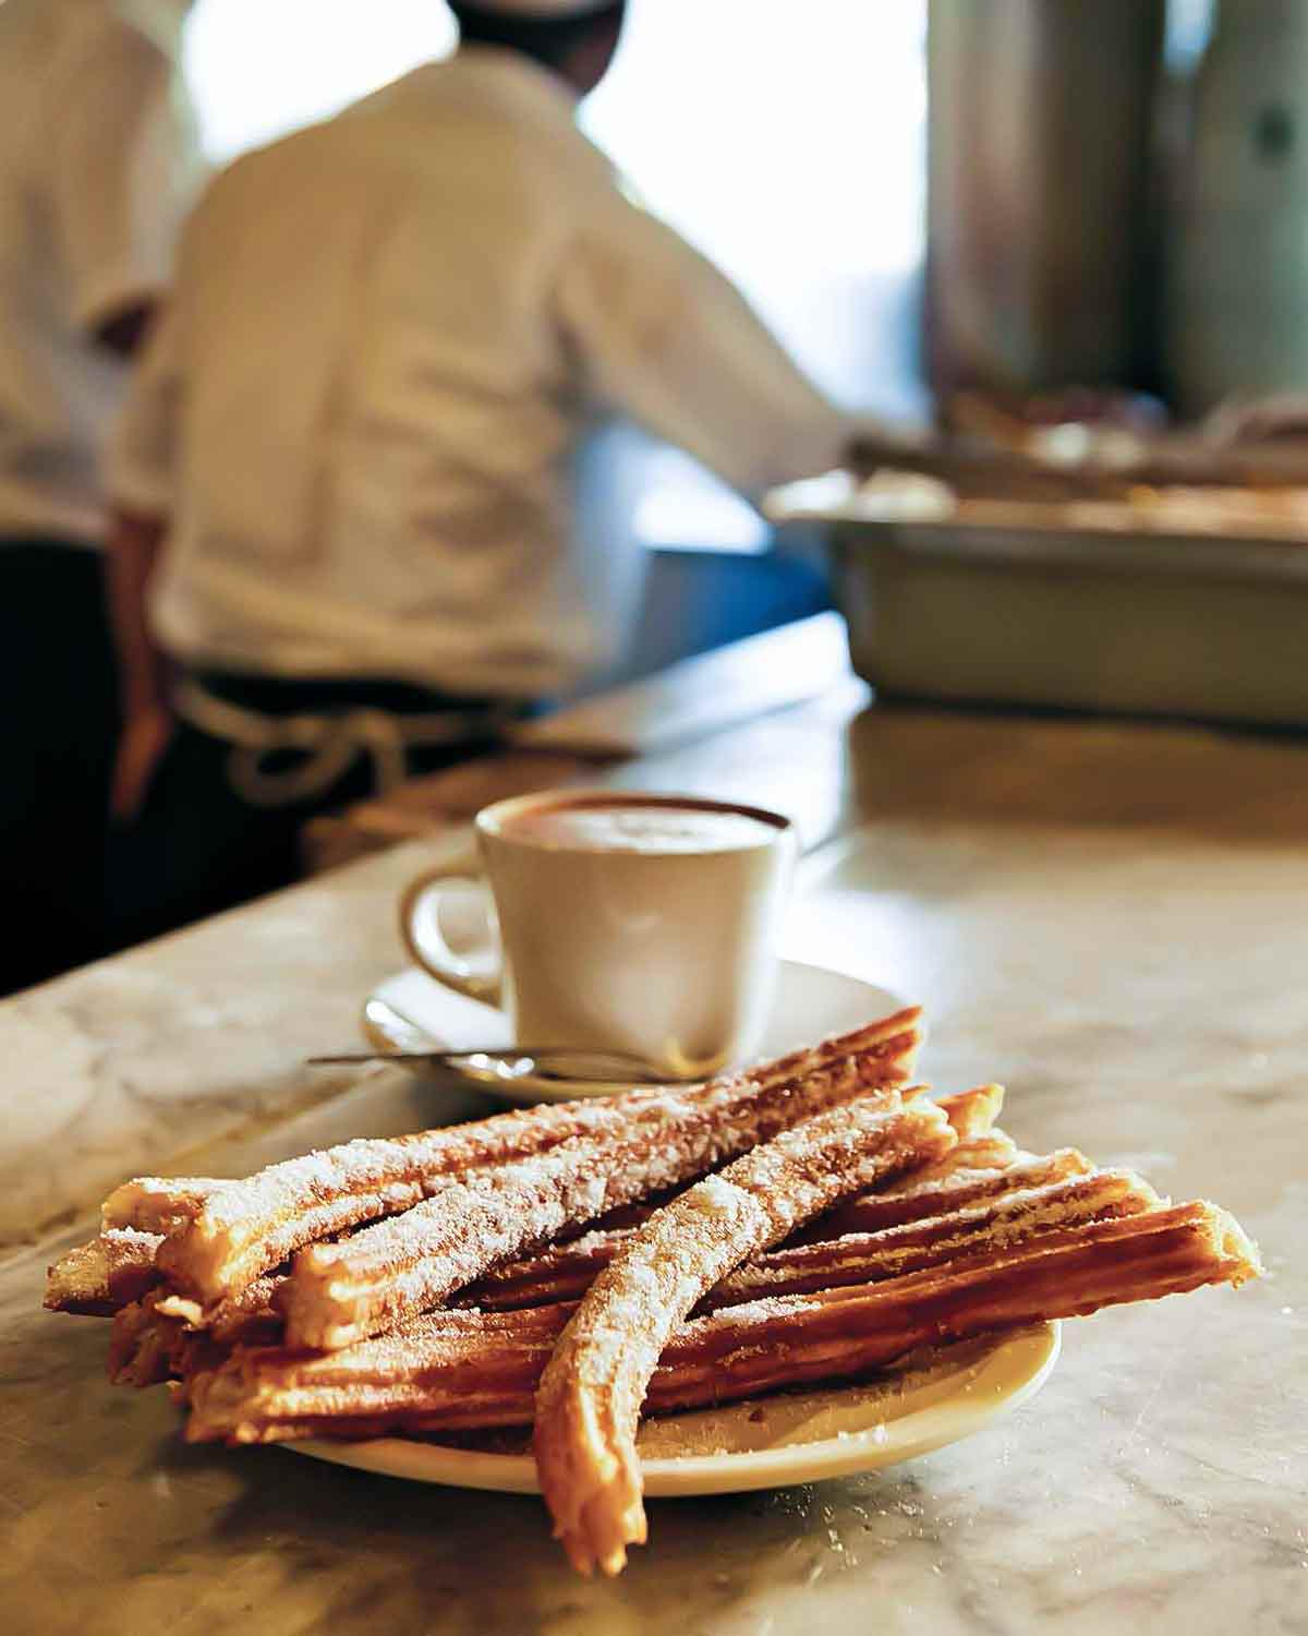
[[186, 1448], [164, 1394], [105, 1384], [101, 1325], [38, 1310], [44, 1266], [129, 1171], [473, 1111], [299, 1067], [399, 964], [407, 846], [0, 1006], [7, 1626], [1308, 1633], [1308, 748], [837, 689], [611, 777], [795, 811], [791, 955], [921, 998], [942, 1090], [1004, 1080], [1025, 1145], [1215, 1198], [1269, 1276], [1068, 1324], [1043, 1392], [912, 1464], [652, 1502], [616, 1582], [531, 1499]]

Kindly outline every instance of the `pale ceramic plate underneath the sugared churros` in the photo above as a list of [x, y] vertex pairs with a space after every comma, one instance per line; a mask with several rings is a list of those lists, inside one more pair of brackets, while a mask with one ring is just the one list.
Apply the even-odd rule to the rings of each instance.
[[[984, 1430], [1040, 1391], [1058, 1324], [945, 1346], [860, 1386], [760, 1397], [647, 1420], [639, 1449], [652, 1497], [741, 1494], [876, 1471]], [[409, 1438], [286, 1443], [298, 1454], [387, 1477], [540, 1494], [530, 1454], [489, 1454]]]

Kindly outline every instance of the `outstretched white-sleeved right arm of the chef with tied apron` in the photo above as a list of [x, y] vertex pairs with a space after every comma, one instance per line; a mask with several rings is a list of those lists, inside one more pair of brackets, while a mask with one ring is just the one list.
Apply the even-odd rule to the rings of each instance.
[[744, 494], [840, 463], [853, 422], [711, 262], [616, 188], [579, 211], [554, 298], [589, 389]]

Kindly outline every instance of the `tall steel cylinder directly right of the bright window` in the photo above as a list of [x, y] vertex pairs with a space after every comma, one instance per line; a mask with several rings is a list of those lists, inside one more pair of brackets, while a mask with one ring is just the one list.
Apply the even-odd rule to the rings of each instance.
[[1162, 0], [932, 0], [932, 384], [1128, 381]]

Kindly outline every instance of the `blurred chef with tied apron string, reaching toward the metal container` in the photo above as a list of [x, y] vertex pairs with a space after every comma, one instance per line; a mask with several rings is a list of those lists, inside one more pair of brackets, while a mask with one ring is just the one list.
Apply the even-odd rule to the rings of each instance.
[[206, 193], [116, 440], [123, 937], [296, 875], [316, 811], [490, 746], [621, 620], [572, 460], [620, 411], [737, 489], [845, 419], [579, 133], [623, 5], [459, 49]]

